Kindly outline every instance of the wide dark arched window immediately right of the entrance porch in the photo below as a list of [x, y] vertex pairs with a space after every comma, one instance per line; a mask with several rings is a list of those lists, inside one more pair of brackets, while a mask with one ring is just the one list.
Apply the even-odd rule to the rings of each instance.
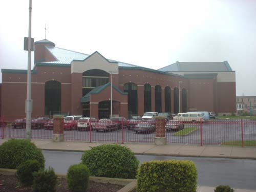
[[128, 82], [123, 86], [123, 91], [128, 93], [128, 114], [137, 114], [138, 113], [138, 93], [137, 93], [137, 84]]

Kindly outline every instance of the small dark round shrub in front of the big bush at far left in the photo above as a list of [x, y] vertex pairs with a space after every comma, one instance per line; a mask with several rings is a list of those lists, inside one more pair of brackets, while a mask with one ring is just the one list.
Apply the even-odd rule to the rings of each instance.
[[33, 172], [38, 172], [40, 163], [37, 160], [27, 160], [17, 167], [17, 179], [22, 185], [33, 184]]

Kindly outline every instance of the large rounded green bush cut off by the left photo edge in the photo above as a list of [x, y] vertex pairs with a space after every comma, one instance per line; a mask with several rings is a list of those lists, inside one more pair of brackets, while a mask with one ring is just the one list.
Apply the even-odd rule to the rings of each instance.
[[25, 139], [10, 139], [0, 145], [0, 167], [17, 168], [29, 159], [36, 159], [40, 167], [45, 167], [45, 158], [39, 148]]

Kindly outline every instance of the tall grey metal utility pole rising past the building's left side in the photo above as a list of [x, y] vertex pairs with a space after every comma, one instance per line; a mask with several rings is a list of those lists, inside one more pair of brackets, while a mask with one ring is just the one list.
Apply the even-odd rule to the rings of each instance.
[[31, 12], [32, 0], [29, 0], [29, 42], [28, 42], [28, 73], [26, 99], [26, 139], [31, 139]]

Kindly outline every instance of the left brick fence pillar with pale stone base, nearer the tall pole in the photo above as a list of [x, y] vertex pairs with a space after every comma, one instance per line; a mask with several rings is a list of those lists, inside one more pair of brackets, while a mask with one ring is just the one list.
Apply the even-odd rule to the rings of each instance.
[[63, 123], [64, 119], [62, 115], [53, 116], [53, 141], [63, 141], [64, 132], [63, 132]]

